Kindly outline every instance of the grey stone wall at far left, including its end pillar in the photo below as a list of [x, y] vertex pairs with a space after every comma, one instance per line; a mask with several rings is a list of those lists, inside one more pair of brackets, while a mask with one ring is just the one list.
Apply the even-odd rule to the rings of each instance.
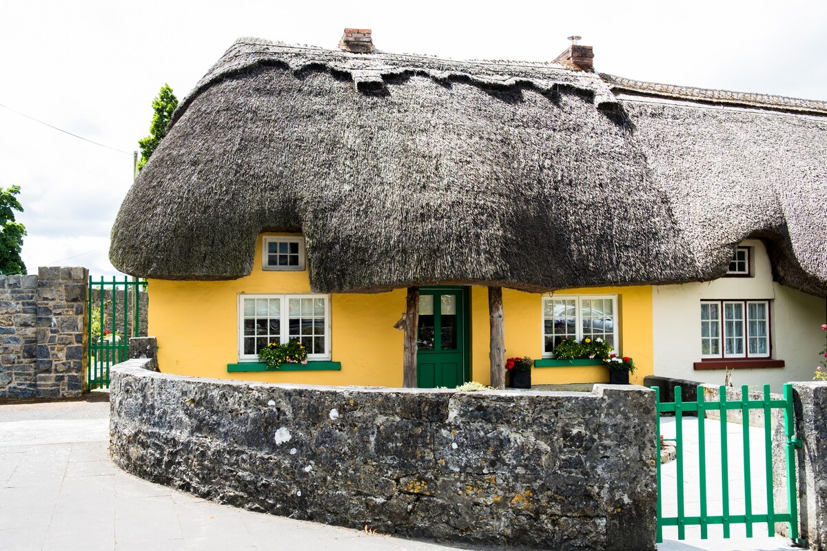
[[86, 268], [0, 276], [0, 398], [79, 397]]

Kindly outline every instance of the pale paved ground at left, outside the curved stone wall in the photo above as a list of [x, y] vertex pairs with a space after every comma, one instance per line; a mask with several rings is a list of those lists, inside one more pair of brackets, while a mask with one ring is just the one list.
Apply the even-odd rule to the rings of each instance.
[[217, 505], [108, 459], [108, 401], [0, 405], [3, 551], [458, 549]]

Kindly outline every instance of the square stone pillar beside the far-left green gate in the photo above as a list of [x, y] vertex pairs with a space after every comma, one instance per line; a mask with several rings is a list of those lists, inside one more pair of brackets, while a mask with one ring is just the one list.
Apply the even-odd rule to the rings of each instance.
[[88, 276], [86, 268], [38, 269], [38, 397], [79, 397], [84, 391]]

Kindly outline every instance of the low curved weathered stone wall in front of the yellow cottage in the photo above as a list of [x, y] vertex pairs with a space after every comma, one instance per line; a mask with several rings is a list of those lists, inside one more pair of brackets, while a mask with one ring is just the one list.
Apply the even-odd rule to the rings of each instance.
[[654, 396], [302, 387], [112, 368], [112, 460], [152, 482], [380, 534], [655, 549]]

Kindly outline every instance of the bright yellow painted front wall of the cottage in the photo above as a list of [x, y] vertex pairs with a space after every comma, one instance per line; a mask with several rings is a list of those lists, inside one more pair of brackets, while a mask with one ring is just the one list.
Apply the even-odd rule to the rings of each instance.
[[[285, 234], [266, 234], [285, 235]], [[341, 371], [227, 373], [238, 362], [239, 293], [311, 292], [308, 272], [261, 269], [261, 236], [252, 273], [232, 281], [181, 282], [152, 279], [149, 335], [158, 341], [161, 371], [194, 377], [320, 385], [402, 386], [403, 332], [393, 325], [405, 309], [405, 290], [330, 296], [332, 360]], [[556, 294], [617, 294], [621, 352], [638, 366], [631, 382], [653, 373], [652, 287], [595, 287]], [[542, 295], [503, 291], [508, 356], [543, 357]], [[490, 369], [488, 292], [471, 287], [471, 379], [488, 384]], [[534, 368], [533, 384], [605, 382], [601, 367]]]

